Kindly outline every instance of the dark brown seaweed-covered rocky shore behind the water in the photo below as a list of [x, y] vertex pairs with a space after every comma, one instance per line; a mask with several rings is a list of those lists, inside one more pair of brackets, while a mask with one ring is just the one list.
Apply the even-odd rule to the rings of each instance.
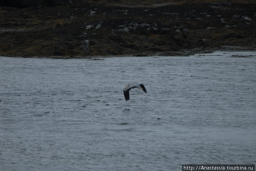
[[240, 2], [0, 7], [0, 56], [90, 58], [256, 50], [256, 3]]

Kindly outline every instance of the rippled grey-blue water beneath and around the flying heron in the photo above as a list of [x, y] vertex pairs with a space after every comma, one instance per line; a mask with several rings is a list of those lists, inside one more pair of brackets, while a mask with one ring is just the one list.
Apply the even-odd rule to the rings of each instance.
[[0, 170], [256, 164], [255, 52], [102, 59], [0, 57]]

